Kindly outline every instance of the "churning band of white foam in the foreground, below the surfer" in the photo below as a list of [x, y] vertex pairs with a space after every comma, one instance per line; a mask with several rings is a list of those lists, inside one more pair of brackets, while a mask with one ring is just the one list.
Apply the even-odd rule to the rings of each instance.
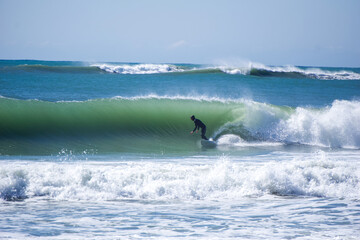
[[265, 195], [359, 200], [360, 168], [357, 162], [334, 161], [325, 153], [300, 155], [281, 164], [277, 160], [234, 162], [224, 157], [202, 164], [183, 163], [181, 159], [173, 162], [8, 162], [2, 164], [0, 193], [3, 199], [45, 196], [56, 200], [93, 201], [222, 201]]

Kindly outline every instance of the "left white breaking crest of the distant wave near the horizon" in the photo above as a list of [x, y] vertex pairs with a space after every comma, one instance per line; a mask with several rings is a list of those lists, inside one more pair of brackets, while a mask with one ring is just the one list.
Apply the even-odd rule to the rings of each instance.
[[170, 64], [94, 64], [99, 69], [118, 74], [157, 74], [183, 72], [184, 70]]

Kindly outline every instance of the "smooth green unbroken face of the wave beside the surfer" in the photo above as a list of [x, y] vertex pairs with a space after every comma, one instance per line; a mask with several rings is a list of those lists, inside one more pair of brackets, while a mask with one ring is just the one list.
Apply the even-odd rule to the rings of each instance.
[[[195, 115], [207, 136], [241, 116], [242, 103], [187, 99], [100, 99], [44, 102], [0, 99], [0, 152], [164, 151], [197, 148]], [[9, 148], [9, 144], [12, 146]]]

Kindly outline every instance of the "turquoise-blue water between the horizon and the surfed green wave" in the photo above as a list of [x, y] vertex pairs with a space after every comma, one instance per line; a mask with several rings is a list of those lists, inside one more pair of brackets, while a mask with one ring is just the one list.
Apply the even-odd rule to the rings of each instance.
[[[359, 98], [359, 68], [267, 67], [269, 74], [259, 76], [251, 74], [251, 66], [230, 68], [240, 69], [244, 73], [233, 70], [234, 74], [229, 74], [229, 67], [158, 64], [148, 68], [145, 68], [145, 65], [143, 69], [134, 67], [133, 71], [129, 70], [133, 74], [121, 74], [108, 72], [110, 67], [103, 67], [104, 65], [80, 62], [0, 61], [1, 95], [43, 101], [84, 101], [148, 95], [194, 98], [206, 96], [224, 99], [245, 98], [292, 107], [325, 106], [336, 99]], [[108, 65], [114, 66], [111, 69], [116, 70], [116, 66], [126, 64]], [[167, 69], [162, 67], [163, 65], [174, 69]], [[223, 71], [219, 70], [221, 68]], [[295, 74], [295, 70], [304, 73]], [[142, 74], [136, 74], [137, 72]], [[150, 74], [146, 74], [147, 72]]]

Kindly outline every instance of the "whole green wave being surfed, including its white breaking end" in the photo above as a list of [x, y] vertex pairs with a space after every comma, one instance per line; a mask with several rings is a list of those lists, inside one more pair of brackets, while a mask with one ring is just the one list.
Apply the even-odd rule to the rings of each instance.
[[[6, 140], [58, 138], [72, 143], [92, 139], [90, 145], [105, 144], [109, 151], [142, 151], [154, 146], [186, 151], [198, 140], [189, 134], [192, 114], [207, 124], [208, 136], [220, 145], [360, 148], [358, 101], [334, 101], [326, 108], [313, 109], [242, 99], [156, 95], [72, 102], [0, 98], [0, 112], [2, 154], [16, 149], [7, 149]], [[23, 144], [21, 147], [24, 149]]]

